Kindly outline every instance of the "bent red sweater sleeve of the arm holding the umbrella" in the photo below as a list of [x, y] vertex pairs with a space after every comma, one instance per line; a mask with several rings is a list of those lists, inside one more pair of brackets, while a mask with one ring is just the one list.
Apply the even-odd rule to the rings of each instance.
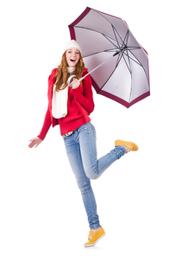
[[72, 89], [72, 94], [78, 103], [83, 106], [84, 110], [89, 114], [94, 110], [93, 93], [91, 89], [91, 77], [87, 75], [83, 80], [83, 94], [80, 93], [79, 87]]

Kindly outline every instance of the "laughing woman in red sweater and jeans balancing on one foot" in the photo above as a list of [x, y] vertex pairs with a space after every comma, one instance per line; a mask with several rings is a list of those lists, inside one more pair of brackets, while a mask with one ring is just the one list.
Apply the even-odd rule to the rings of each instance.
[[[67, 79], [75, 74], [71, 86]], [[91, 188], [91, 179], [97, 179], [117, 159], [129, 150], [138, 150], [134, 143], [116, 141], [115, 149], [97, 159], [96, 131], [89, 115], [94, 110], [91, 77], [87, 74], [77, 42], [66, 43], [58, 68], [48, 78], [48, 108], [39, 136], [30, 139], [30, 148], [37, 147], [47, 135], [50, 126], [59, 125], [72, 171], [78, 182], [84, 208], [91, 228], [89, 241], [84, 246], [94, 246], [105, 234], [97, 215], [97, 203]]]

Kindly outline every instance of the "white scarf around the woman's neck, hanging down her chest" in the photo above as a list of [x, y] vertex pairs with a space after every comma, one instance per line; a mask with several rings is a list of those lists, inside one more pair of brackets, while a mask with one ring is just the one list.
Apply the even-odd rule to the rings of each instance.
[[[71, 74], [75, 67], [67, 67], [67, 73]], [[63, 85], [64, 86], [64, 85]], [[53, 86], [52, 114], [53, 118], [65, 118], [67, 114], [68, 86], [57, 92]]]

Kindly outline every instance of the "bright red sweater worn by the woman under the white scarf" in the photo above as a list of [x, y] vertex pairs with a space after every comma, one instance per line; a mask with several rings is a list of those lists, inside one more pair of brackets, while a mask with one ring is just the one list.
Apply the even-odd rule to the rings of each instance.
[[[89, 115], [94, 110], [93, 95], [91, 90], [91, 77], [87, 75], [82, 80], [82, 86], [76, 89], [69, 87], [68, 101], [67, 101], [67, 115], [65, 118], [53, 118], [52, 115], [52, 99], [53, 99], [53, 84], [55, 82], [54, 74], [57, 68], [54, 68], [52, 74], [48, 78], [48, 107], [40, 135], [42, 140], [46, 137], [47, 131], [50, 126], [59, 125], [61, 135], [66, 134], [68, 131], [74, 131], [79, 126], [84, 125], [91, 121]], [[84, 69], [82, 76], [87, 74], [87, 68]]]

